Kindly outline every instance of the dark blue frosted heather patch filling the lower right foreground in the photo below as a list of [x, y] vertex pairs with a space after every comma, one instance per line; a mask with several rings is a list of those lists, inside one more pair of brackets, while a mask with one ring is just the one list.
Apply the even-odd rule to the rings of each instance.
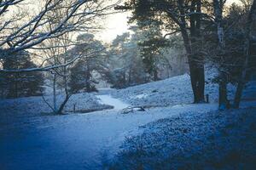
[[[254, 105], [255, 106], [255, 105]], [[111, 169], [256, 169], [256, 108], [187, 111], [125, 139]]]

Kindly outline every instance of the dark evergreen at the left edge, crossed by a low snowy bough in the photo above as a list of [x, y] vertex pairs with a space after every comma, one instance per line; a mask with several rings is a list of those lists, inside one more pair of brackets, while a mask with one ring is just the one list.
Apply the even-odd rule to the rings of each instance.
[[[29, 54], [22, 52], [3, 60], [3, 69], [23, 69], [36, 67]], [[1, 73], [1, 91], [3, 98], [19, 98], [41, 95], [44, 76], [42, 72]]]

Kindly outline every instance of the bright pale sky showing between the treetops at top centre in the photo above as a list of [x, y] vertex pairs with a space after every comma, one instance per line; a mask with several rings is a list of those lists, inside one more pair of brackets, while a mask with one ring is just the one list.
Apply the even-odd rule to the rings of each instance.
[[[227, 0], [227, 3], [239, 3], [239, 1], [240, 0]], [[96, 38], [102, 40], [103, 42], [112, 42], [115, 37], [127, 32], [129, 29], [127, 21], [130, 15], [131, 13], [127, 12], [109, 15], [104, 23], [106, 26], [105, 29], [100, 31], [96, 35]]]

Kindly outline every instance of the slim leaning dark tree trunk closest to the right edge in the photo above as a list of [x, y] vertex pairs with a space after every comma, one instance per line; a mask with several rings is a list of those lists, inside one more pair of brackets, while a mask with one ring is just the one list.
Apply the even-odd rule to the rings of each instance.
[[253, 21], [256, 18], [256, 0], [253, 0], [253, 5], [250, 9], [250, 13], [247, 18], [247, 26], [246, 26], [246, 41], [244, 44], [244, 52], [243, 55], [245, 57], [242, 65], [241, 70], [241, 77], [239, 78], [239, 82], [236, 88], [236, 96], [234, 99], [234, 108], [239, 108], [240, 102], [241, 102], [241, 94], [242, 90], [245, 85], [245, 79], [247, 75], [247, 67], [248, 67], [248, 59], [249, 59], [249, 46], [250, 46], [250, 39], [251, 39], [251, 31], [252, 31], [252, 25]]

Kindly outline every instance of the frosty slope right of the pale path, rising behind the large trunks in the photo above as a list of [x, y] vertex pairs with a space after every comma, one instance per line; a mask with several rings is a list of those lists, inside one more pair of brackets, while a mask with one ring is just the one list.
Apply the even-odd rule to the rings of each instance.
[[[112, 95], [131, 105], [190, 104], [193, 102], [193, 92], [190, 84], [189, 75], [184, 74], [158, 82], [149, 82], [136, 87], [112, 91]], [[234, 86], [229, 84], [229, 90], [229, 99], [233, 99]], [[211, 83], [211, 77], [207, 77], [205, 94], [209, 94], [210, 103], [218, 102], [218, 84]], [[256, 82], [248, 84], [243, 98], [256, 99]]]

